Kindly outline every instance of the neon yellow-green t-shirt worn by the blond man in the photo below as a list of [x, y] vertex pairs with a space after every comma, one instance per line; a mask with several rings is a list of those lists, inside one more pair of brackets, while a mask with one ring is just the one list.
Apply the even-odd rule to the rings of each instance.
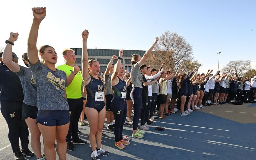
[[[68, 66], [66, 64], [58, 66], [57, 69], [66, 72], [67, 77], [73, 72], [73, 67]], [[82, 72], [79, 71], [75, 75], [72, 82], [68, 85], [68, 87], [66, 87], [67, 98], [78, 99], [82, 97], [82, 90], [81, 90], [82, 82], [83, 82]]]

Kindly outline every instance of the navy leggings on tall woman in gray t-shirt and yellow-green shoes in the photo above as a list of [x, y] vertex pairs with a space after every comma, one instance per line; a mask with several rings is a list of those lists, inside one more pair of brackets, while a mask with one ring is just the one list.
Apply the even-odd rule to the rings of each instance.
[[133, 110], [134, 110], [134, 117], [133, 117], [133, 130], [137, 130], [139, 125], [139, 115], [141, 112], [142, 107], [142, 88], [133, 87], [131, 91], [131, 99], [133, 101]]

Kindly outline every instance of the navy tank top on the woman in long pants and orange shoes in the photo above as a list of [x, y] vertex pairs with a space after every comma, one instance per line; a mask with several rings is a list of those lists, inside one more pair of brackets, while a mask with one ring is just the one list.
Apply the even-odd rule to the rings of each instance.
[[117, 85], [112, 86], [114, 99], [124, 99], [126, 100], [126, 83], [117, 77], [119, 82]]

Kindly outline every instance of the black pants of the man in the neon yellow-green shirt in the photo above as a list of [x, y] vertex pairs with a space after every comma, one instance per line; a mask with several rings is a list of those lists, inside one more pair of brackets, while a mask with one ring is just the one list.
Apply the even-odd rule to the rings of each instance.
[[[79, 99], [71, 99], [68, 98], [68, 104], [69, 104], [69, 132], [66, 136], [66, 141], [71, 142], [72, 140], [78, 140], [78, 121], [81, 115], [81, 112], [83, 110], [84, 101], [82, 98]], [[72, 136], [72, 138], [71, 138]]]

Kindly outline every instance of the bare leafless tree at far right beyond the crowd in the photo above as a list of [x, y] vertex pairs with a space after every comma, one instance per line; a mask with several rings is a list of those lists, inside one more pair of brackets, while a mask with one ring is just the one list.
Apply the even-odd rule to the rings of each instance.
[[240, 77], [243, 76], [246, 72], [251, 70], [251, 61], [250, 60], [237, 60], [230, 61], [226, 66], [222, 68], [222, 72], [230, 71], [233, 75]]

